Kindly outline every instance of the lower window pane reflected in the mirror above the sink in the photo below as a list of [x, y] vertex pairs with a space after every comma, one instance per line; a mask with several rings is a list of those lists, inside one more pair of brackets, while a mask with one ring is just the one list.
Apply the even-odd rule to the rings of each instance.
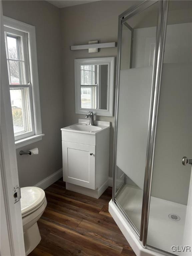
[[97, 108], [97, 87], [81, 87], [81, 108]]

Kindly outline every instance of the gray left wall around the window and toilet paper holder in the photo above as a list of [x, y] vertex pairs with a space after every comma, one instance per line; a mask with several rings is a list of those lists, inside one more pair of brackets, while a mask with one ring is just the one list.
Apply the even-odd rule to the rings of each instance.
[[[64, 126], [61, 83], [60, 10], [46, 1], [3, 1], [3, 14], [36, 28], [41, 104], [41, 141], [17, 149], [20, 186], [32, 186], [62, 167], [61, 131]], [[20, 156], [20, 150], [39, 148], [39, 155]]]

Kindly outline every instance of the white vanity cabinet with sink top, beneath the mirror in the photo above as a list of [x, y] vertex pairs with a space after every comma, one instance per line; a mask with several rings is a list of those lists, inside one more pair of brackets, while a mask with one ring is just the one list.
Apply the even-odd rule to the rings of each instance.
[[68, 190], [99, 198], [108, 187], [110, 122], [95, 123], [79, 119], [61, 129], [63, 181]]

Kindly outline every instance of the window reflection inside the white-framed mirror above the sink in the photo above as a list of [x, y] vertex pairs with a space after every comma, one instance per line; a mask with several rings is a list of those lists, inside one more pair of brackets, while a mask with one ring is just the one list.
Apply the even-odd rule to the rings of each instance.
[[81, 65], [81, 108], [97, 108], [97, 65]]

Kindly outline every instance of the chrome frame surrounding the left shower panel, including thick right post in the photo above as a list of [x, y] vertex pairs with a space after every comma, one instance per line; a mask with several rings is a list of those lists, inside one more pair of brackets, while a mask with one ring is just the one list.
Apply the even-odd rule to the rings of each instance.
[[[154, 66], [152, 76], [152, 90], [151, 102], [149, 112], [149, 125], [148, 125], [148, 140], [146, 148], [146, 165], [145, 165], [145, 178], [144, 178], [144, 191], [143, 203], [141, 213], [141, 228], [140, 232], [135, 227], [134, 223], [129, 219], [129, 216], [123, 211], [115, 199], [116, 196], [116, 151], [117, 151], [117, 119], [118, 119], [118, 99], [119, 99], [119, 74], [120, 74], [120, 61], [121, 61], [121, 41], [122, 41], [122, 25], [131, 17], [139, 14], [153, 4], [159, 2], [158, 24], [156, 33], [156, 44], [154, 54]], [[151, 194], [151, 178], [153, 169], [153, 157], [155, 148], [156, 124], [158, 116], [159, 94], [162, 76], [162, 65], [164, 57], [164, 46], [166, 37], [168, 14], [168, 0], [145, 0], [139, 5], [134, 5], [121, 15], [119, 15], [118, 23], [118, 54], [117, 54], [117, 69], [116, 69], [116, 92], [115, 92], [115, 128], [114, 128], [114, 150], [113, 150], [113, 193], [112, 201], [116, 203], [117, 207], [121, 210], [124, 217], [128, 220], [129, 224], [138, 235], [144, 247], [147, 241], [147, 228], [149, 218], [150, 194]], [[125, 183], [124, 183], [125, 184]], [[151, 248], [152, 249], [152, 248]], [[158, 250], [159, 251], [159, 250]]]

